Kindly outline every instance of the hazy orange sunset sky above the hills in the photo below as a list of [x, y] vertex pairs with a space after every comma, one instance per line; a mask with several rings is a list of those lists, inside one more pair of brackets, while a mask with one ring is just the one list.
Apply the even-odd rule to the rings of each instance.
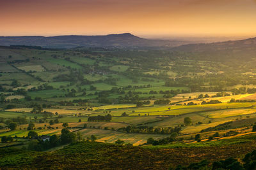
[[0, 0], [0, 36], [256, 36], [256, 0]]

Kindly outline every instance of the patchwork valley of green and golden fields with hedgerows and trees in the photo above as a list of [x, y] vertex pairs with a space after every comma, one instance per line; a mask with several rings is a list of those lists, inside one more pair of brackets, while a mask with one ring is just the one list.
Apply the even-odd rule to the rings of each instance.
[[200, 52], [1, 48], [2, 148], [53, 154], [84, 142], [198, 157], [254, 142], [253, 62], [243, 73]]

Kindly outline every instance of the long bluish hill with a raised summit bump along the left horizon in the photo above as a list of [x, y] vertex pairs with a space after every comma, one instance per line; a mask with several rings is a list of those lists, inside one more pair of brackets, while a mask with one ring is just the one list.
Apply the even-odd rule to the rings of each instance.
[[106, 36], [0, 36], [0, 45], [28, 45], [47, 48], [86, 47], [140, 47], [140, 46], [178, 46], [182, 41], [144, 39], [130, 33], [109, 34]]

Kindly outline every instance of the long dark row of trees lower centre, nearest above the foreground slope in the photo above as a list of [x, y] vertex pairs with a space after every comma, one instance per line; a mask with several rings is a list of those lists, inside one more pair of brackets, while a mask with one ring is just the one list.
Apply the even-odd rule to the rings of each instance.
[[118, 129], [120, 132], [126, 133], [148, 133], [148, 134], [172, 134], [176, 132], [179, 134], [181, 131], [180, 127], [148, 127], [148, 126], [127, 126]]

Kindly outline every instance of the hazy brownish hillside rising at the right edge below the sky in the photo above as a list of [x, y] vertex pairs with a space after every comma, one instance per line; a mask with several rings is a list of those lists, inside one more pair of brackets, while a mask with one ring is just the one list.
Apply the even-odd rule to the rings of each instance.
[[251, 61], [256, 59], [256, 38], [220, 43], [200, 43], [176, 46], [172, 51], [186, 52], [189, 57], [198, 60]]

